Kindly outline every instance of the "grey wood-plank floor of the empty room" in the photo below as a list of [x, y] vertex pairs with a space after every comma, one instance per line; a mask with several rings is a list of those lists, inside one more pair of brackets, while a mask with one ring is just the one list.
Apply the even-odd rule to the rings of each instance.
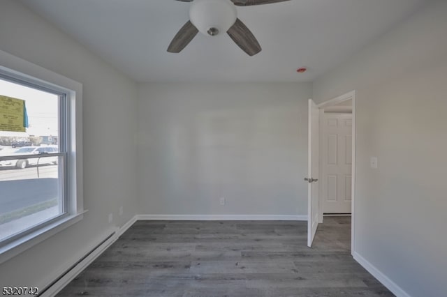
[[351, 257], [351, 218], [138, 221], [58, 296], [394, 296]]

